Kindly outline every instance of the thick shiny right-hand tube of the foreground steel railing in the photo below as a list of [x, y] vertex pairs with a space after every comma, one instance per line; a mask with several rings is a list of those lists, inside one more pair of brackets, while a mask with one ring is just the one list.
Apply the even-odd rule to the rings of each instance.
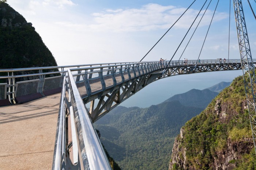
[[91, 170], [112, 170], [93, 123], [86, 111], [71, 71], [68, 69], [71, 103], [75, 116], [80, 166]]

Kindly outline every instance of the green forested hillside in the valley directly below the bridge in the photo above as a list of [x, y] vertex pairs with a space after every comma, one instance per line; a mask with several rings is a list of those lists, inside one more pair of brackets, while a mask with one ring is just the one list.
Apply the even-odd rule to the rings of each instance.
[[174, 136], [202, 108], [169, 101], [148, 108], [117, 107], [94, 123], [121, 169], [167, 169]]

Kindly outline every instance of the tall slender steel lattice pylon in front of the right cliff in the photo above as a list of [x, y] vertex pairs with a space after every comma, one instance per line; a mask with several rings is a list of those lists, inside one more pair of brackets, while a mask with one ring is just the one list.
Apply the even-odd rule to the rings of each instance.
[[256, 92], [256, 79], [252, 63], [252, 54], [249, 45], [249, 39], [245, 24], [244, 11], [242, 8], [241, 0], [233, 0], [234, 12], [237, 27], [237, 37], [240, 49], [241, 66], [244, 77], [244, 86], [246, 93], [246, 100], [248, 105], [248, 112], [252, 128], [252, 137], [254, 148], [256, 152], [256, 108], [255, 108], [255, 92]]

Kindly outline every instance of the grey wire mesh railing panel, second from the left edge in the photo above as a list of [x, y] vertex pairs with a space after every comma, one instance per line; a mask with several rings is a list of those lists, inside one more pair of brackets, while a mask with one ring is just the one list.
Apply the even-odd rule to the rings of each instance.
[[15, 88], [15, 97], [37, 93], [38, 83], [39, 79], [17, 82]]

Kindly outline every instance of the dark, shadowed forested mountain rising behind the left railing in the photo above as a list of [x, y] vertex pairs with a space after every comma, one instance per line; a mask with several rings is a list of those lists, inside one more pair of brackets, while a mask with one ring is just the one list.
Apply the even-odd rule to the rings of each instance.
[[0, 1], [0, 69], [57, 66], [32, 23]]

